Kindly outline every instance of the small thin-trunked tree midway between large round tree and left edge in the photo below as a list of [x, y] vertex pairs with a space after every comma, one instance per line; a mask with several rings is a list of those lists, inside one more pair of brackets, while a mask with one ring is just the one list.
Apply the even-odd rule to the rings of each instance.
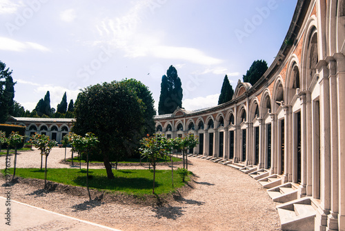
[[[57, 141], [51, 141], [45, 134], [35, 134], [33, 137], [34, 146], [41, 150], [41, 155], [46, 156], [46, 165], [44, 167], [44, 188], [47, 187], [47, 159], [52, 148], [57, 145]], [[42, 170], [42, 163], [41, 163]]]

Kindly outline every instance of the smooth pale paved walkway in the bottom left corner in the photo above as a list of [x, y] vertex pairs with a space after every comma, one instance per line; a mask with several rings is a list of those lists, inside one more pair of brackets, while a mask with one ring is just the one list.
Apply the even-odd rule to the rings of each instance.
[[[1, 217], [0, 230], [115, 230], [104, 225], [97, 225], [89, 221], [82, 221], [74, 217], [68, 217], [56, 212], [50, 212], [37, 208], [26, 203], [10, 201], [6, 206], [6, 198], [0, 197], [1, 214], [10, 209], [9, 216], [4, 214]], [[6, 220], [6, 217], [9, 217]], [[6, 224], [9, 223], [10, 225]], [[119, 230], [115, 230], [119, 231]]]

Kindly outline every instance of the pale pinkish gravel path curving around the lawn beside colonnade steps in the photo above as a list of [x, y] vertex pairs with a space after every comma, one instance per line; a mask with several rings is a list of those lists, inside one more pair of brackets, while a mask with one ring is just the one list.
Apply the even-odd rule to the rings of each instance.
[[[48, 168], [68, 168], [59, 163], [63, 156], [63, 149], [53, 149]], [[87, 197], [59, 192], [37, 194], [37, 188], [19, 183], [12, 186], [12, 199], [119, 230], [280, 230], [275, 203], [257, 181], [219, 163], [189, 160], [197, 176], [194, 190], [164, 207], [89, 203]], [[17, 166], [39, 168], [40, 161], [37, 150], [22, 152]], [[3, 162], [0, 157], [1, 168]]]

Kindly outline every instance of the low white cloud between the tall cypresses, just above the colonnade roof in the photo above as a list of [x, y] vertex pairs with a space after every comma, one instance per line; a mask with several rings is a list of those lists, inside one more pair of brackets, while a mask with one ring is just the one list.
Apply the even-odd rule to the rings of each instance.
[[182, 107], [186, 110], [197, 110], [217, 106], [219, 94], [210, 94], [206, 97], [197, 97], [194, 99], [184, 99]]

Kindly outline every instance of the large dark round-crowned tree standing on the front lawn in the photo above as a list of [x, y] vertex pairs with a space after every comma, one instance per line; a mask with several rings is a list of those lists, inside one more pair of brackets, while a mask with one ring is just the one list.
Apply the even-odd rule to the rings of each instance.
[[126, 83], [112, 81], [84, 88], [75, 102], [77, 134], [92, 132], [99, 139], [108, 179], [113, 179], [110, 159], [119, 161], [129, 143], [144, 130], [144, 103]]

